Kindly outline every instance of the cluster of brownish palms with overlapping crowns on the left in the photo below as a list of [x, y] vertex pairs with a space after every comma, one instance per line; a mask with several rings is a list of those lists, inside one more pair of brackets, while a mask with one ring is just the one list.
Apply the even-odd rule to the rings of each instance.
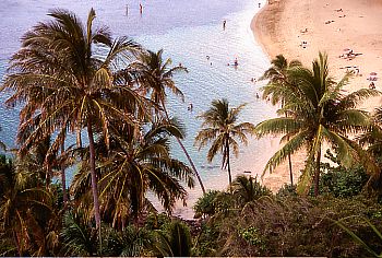
[[[170, 138], [181, 143], [184, 133], [167, 114], [167, 91], [182, 97], [172, 75], [186, 69], [171, 67], [163, 50], [146, 50], [127, 37], [112, 38], [105, 26], [95, 27], [93, 9], [86, 24], [65, 10], [49, 15], [51, 21], [38, 23], [22, 37], [1, 87], [12, 94], [7, 105], [21, 105], [16, 136], [21, 165], [7, 172], [10, 196], [0, 203], [2, 226], [16, 223], [10, 236], [20, 255], [24, 244], [32, 245], [32, 233], [24, 228], [32, 208], [25, 206], [24, 218], [16, 207], [5, 206], [22, 206], [16, 195], [35, 190], [41, 192], [36, 203], [55, 199], [55, 176], [61, 176], [64, 209], [86, 211], [96, 228], [102, 220], [123, 228], [152, 207], [147, 191], [170, 212], [176, 200], [186, 199], [184, 187], [193, 187], [198, 173], [169, 150]], [[68, 144], [69, 136], [76, 136], [76, 144]], [[36, 166], [22, 165], [26, 161]], [[65, 169], [73, 164], [79, 173], [69, 195]], [[7, 219], [11, 210], [20, 220]]]

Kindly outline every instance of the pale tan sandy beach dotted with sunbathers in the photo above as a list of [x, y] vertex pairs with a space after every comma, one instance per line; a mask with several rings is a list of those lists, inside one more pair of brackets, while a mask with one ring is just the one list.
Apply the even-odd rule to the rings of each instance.
[[[319, 51], [326, 52], [331, 75], [337, 81], [347, 70], [358, 73], [345, 86], [347, 92], [368, 87], [370, 73], [377, 73], [373, 83], [382, 90], [381, 10], [382, 0], [270, 0], [253, 17], [251, 28], [270, 60], [283, 54], [311, 67]], [[357, 56], [344, 58], [349, 51]], [[380, 103], [381, 97], [375, 97], [362, 108], [372, 112]], [[303, 159], [298, 153], [294, 166], [301, 168]], [[286, 181], [289, 173], [283, 164], [263, 183], [276, 189]]]

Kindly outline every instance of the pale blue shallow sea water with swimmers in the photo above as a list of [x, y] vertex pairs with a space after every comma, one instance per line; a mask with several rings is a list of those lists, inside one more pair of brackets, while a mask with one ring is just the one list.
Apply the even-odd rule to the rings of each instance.
[[[164, 49], [165, 56], [174, 64], [182, 63], [189, 73], [177, 74], [175, 81], [183, 92], [186, 102], [172, 96], [168, 99], [168, 109], [186, 125], [184, 145], [194, 160], [207, 189], [225, 189], [228, 176], [220, 169], [220, 157], [212, 164], [206, 161], [206, 150], [198, 151], [193, 146], [194, 137], [200, 130], [198, 115], [207, 109], [211, 102], [225, 97], [232, 106], [247, 103], [241, 114], [241, 121], [254, 125], [273, 117], [275, 108], [256, 98], [263, 83], [251, 82], [259, 78], [270, 62], [259, 44], [253, 39], [250, 22], [259, 11], [253, 0], [153, 0], [141, 1], [143, 13], [140, 14], [138, 0], [2, 0], [0, 9], [0, 32], [3, 40], [0, 48], [0, 75], [7, 69], [7, 60], [20, 47], [19, 38], [39, 21], [47, 21], [49, 10], [63, 8], [74, 11], [86, 21], [88, 10], [93, 7], [97, 13], [96, 22], [108, 25], [116, 36], [127, 35], [151, 50]], [[128, 12], [127, 12], [128, 11]], [[226, 20], [226, 30], [223, 21]], [[206, 57], [210, 57], [207, 59]], [[232, 63], [238, 59], [239, 66]], [[7, 95], [0, 95], [1, 141], [14, 146], [17, 128], [17, 109], [7, 109], [2, 105]], [[189, 103], [193, 110], [188, 110]], [[238, 159], [232, 159], [232, 175], [252, 172], [261, 174], [273, 154], [277, 143], [267, 139], [250, 138], [248, 146], [241, 146]], [[172, 154], [187, 162], [177, 144]], [[69, 175], [71, 179], [72, 175]], [[175, 214], [191, 216], [191, 207], [201, 196], [196, 187], [189, 191], [188, 208], [179, 208]]]

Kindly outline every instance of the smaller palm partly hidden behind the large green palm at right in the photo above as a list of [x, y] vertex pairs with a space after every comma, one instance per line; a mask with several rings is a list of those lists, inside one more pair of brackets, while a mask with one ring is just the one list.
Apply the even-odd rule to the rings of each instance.
[[[288, 79], [288, 71], [293, 68], [300, 67], [301, 62], [298, 60], [291, 60], [288, 62], [288, 60], [283, 56], [278, 55], [275, 59], [271, 61], [272, 67], [267, 69], [264, 74], [260, 78], [260, 80], [270, 80], [266, 86], [263, 87], [263, 98], [267, 98], [271, 96], [271, 102], [273, 105], [276, 103], [280, 103], [282, 106], [285, 104], [285, 97], [283, 94], [279, 94], [280, 92], [274, 91], [275, 87], [273, 85], [277, 85], [276, 89], [279, 86], [287, 87], [293, 86], [289, 83]], [[285, 116], [287, 117], [287, 113], [285, 113]], [[288, 139], [287, 139], [288, 140]], [[290, 155], [288, 155], [288, 163], [289, 163], [289, 175], [290, 175], [290, 185], [294, 185], [294, 174], [291, 172], [291, 160]]]

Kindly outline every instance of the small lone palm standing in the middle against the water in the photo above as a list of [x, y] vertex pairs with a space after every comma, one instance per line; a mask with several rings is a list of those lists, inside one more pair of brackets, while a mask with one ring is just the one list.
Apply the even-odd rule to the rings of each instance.
[[239, 144], [235, 138], [247, 145], [246, 133], [252, 134], [254, 129], [254, 126], [250, 122], [237, 124], [243, 107], [244, 105], [229, 108], [229, 103], [225, 98], [213, 101], [210, 109], [200, 116], [203, 119], [203, 129], [195, 137], [195, 144], [199, 145], [199, 150], [210, 142], [212, 143], [207, 154], [208, 162], [212, 162], [217, 153], [222, 153], [222, 168], [228, 169], [230, 191], [232, 190], [230, 149], [238, 156]]

